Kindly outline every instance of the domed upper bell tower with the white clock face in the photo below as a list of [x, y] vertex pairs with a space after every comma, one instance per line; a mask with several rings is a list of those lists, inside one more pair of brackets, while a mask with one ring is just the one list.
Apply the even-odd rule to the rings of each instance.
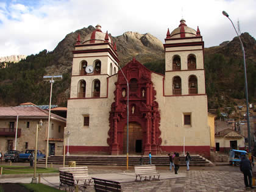
[[118, 72], [119, 63], [116, 44], [108, 32], [102, 32], [98, 24], [84, 41], [78, 35], [73, 54], [70, 97], [107, 97], [107, 77]]

